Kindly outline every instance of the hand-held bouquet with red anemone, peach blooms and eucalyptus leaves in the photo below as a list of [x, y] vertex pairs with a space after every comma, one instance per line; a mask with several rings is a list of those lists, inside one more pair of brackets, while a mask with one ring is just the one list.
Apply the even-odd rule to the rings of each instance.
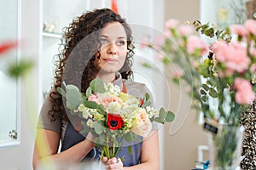
[[[174, 119], [172, 111], [151, 107], [148, 94], [137, 98], [121, 92], [112, 82], [103, 83], [97, 78], [90, 82], [85, 94], [74, 85], [57, 90], [65, 96], [71, 114], [82, 120], [80, 133], [92, 133], [96, 137], [94, 143], [102, 148], [102, 156], [108, 158], [117, 155], [123, 141], [129, 143], [137, 135], [148, 137], [152, 122], [164, 124]], [[129, 145], [128, 150], [131, 152]]]

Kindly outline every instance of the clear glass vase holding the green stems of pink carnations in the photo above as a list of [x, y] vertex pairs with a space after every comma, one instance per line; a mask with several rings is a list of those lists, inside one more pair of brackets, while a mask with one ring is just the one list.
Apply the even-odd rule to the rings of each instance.
[[240, 169], [244, 127], [221, 125], [209, 138], [211, 170]]

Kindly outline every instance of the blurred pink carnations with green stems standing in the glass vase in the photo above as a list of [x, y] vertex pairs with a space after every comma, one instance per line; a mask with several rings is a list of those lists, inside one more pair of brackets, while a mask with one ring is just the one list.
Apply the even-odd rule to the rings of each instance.
[[[167, 20], [164, 34], [153, 43], [146, 42], [162, 52], [160, 59], [165, 65], [174, 65], [172, 80], [185, 82], [195, 109], [203, 113], [205, 122], [214, 125], [208, 124], [213, 133], [222, 133], [213, 136], [219, 167], [232, 165], [237, 146], [236, 131], [224, 126], [240, 127], [243, 109], [255, 99], [255, 27], [255, 20], [222, 30], [200, 21], [181, 24]], [[221, 150], [221, 146], [226, 147]]]

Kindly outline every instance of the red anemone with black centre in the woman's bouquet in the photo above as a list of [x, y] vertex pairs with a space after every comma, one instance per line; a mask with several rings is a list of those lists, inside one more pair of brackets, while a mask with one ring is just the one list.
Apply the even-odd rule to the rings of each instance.
[[111, 130], [117, 130], [121, 128], [125, 122], [123, 121], [122, 117], [118, 114], [108, 113], [108, 127]]

